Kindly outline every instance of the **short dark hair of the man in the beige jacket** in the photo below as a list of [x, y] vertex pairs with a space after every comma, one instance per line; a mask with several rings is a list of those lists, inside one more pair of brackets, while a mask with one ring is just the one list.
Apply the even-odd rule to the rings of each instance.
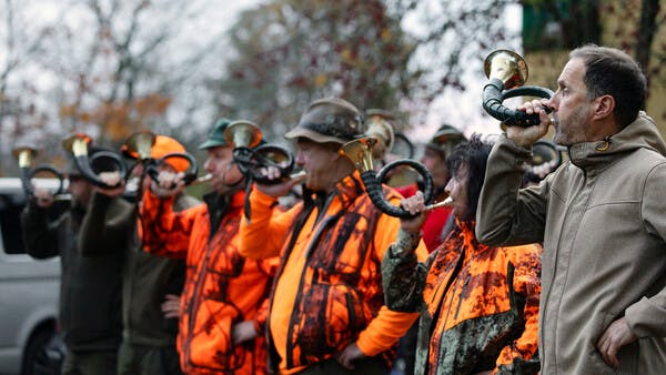
[[596, 44], [573, 50], [569, 59], [574, 58], [585, 62], [587, 98], [615, 98], [613, 114], [623, 129], [636, 120], [647, 97], [647, 80], [638, 63], [618, 49]]

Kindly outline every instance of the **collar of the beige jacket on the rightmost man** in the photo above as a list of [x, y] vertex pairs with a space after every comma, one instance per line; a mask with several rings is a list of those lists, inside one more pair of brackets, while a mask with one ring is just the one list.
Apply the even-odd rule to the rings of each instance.
[[643, 111], [634, 122], [604, 141], [571, 145], [568, 155], [574, 165], [583, 170], [593, 170], [603, 168], [638, 149], [648, 149], [666, 155], [666, 143], [664, 143], [657, 125]]

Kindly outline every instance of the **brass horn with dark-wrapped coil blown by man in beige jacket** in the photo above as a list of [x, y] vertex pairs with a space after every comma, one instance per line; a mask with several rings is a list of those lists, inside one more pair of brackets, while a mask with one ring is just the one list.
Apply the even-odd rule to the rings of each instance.
[[483, 109], [506, 126], [538, 125], [538, 114], [527, 114], [502, 104], [504, 100], [515, 97], [553, 97], [549, 89], [523, 85], [528, 75], [525, 59], [509, 50], [496, 50], [485, 59], [484, 70], [488, 82], [483, 88]]

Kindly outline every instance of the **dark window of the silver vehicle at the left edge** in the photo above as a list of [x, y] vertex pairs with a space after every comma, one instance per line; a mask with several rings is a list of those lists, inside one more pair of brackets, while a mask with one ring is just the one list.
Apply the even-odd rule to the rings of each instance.
[[21, 232], [22, 194], [0, 194], [0, 234], [2, 249], [8, 254], [24, 254]]

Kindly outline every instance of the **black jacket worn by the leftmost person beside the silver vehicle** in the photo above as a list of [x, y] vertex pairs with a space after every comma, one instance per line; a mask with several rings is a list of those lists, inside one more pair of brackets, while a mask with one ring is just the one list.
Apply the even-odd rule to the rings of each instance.
[[72, 207], [54, 221], [28, 202], [21, 221], [27, 252], [36, 259], [60, 255], [60, 327], [70, 351], [115, 351], [121, 341], [122, 252], [83, 257], [78, 233], [85, 212]]

